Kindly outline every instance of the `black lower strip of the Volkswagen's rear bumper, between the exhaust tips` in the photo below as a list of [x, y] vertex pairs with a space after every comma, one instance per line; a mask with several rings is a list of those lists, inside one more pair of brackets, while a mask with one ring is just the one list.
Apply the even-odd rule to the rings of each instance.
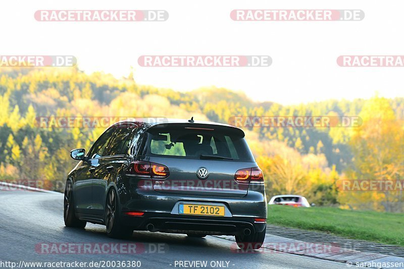
[[[138, 231], [165, 233], [204, 233], [209, 235], [240, 235], [245, 229], [262, 232], [265, 223], [254, 223], [248, 217], [173, 216], [166, 213], [145, 213], [141, 217], [122, 215], [123, 223]], [[151, 225], [150, 225], [151, 224]]]

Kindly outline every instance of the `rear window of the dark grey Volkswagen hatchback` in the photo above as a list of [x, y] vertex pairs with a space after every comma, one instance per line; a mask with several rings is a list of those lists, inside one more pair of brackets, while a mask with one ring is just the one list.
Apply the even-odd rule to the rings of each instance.
[[192, 159], [255, 162], [244, 135], [232, 127], [166, 126], [148, 130], [145, 154]]

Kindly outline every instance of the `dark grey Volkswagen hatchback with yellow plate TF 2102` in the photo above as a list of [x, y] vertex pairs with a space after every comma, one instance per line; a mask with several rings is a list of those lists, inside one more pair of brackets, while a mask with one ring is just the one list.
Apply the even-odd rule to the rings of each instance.
[[213, 122], [127, 121], [70, 152], [64, 200], [68, 227], [107, 226], [191, 237], [234, 235], [258, 249], [266, 231], [264, 176], [241, 129]]

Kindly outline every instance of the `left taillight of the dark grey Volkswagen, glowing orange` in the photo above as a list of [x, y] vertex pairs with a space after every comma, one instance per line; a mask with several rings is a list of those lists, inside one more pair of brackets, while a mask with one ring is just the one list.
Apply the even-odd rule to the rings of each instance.
[[160, 164], [136, 160], [130, 164], [128, 174], [144, 178], [167, 178], [170, 175], [168, 167]]

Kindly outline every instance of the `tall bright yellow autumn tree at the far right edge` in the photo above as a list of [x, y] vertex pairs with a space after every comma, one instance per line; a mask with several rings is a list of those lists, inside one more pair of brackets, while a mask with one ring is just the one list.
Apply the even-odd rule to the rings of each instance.
[[[397, 180], [404, 177], [404, 130], [383, 97], [368, 100], [359, 116], [363, 124], [352, 130], [349, 142], [354, 154], [349, 179]], [[400, 191], [345, 192], [340, 200], [351, 206], [402, 212]]]

